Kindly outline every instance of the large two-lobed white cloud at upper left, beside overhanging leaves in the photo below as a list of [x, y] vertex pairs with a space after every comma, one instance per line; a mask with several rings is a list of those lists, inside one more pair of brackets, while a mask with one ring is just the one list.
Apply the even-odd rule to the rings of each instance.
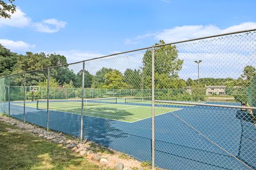
[[57, 19], [45, 19], [41, 22], [33, 22], [31, 18], [26, 16], [26, 13], [22, 12], [20, 7], [17, 6], [16, 12], [10, 13], [11, 19], [0, 19], [0, 27], [7, 25], [10, 27], [18, 28], [33, 28], [38, 32], [54, 33], [58, 32], [61, 28], [65, 28], [67, 22]]

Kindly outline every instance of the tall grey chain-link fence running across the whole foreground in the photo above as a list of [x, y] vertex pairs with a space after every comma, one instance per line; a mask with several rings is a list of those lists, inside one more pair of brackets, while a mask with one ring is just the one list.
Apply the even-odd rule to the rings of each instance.
[[0, 104], [152, 169], [255, 169], [255, 67], [255, 30], [228, 33], [2, 77]]

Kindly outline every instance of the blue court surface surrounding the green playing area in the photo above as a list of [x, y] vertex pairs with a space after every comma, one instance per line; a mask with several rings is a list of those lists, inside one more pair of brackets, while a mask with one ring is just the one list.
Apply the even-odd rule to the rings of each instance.
[[[20, 102], [11, 103], [11, 116], [23, 120], [23, 106], [18, 104]], [[118, 104], [150, 107], [143, 103]], [[155, 117], [156, 166], [164, 169], [256, 168], [256, 128], [251, 121], [237, 117], [238, 109], [158, 104], [156, 107], [179, 108]], [[7, 103], [3, 103], [2, 108], [6, 110]], [[151, 160], [150, 117], [132, 123], [86, 115], [83, 118], [84, 139], [125, 152], [141, 161]], [[26, 107], [26, 121], [46, 127], [46, 110]], [[51, 130], [79, 137], [80, 122], [81, 115], [49, 111]]]

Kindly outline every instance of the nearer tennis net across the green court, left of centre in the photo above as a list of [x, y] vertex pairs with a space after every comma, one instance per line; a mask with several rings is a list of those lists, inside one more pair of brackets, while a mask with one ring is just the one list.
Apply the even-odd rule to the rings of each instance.
[[[116, 104], [117, 98], [96, 98], [96, 99], [84, 99], [84, 106], [98, 106], [98, 105], [108, 105]], [[81, 99], [59, 99], [59, 100], [49, 100], [49, 109], [58, 109], [58, 108], [81, 108], [82, 100]], [[36, 101], [37, 109], [47, 109], [47, 100], [37, 100]]]

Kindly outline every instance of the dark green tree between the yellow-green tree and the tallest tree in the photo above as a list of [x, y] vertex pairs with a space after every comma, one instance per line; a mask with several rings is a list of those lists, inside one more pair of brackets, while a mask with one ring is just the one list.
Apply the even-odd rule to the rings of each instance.
[[140, 70], [126, 69], [124, 72], [124, 82], [133, 89], [142, 88]]

